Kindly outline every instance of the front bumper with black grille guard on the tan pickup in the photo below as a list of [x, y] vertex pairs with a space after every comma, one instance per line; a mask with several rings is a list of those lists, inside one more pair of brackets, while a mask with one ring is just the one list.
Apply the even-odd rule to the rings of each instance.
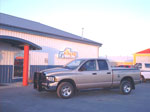
[[44, 73], [34, 73], [33, 88], [38, 91], [56, 91], [58, 82], [49, 82]]

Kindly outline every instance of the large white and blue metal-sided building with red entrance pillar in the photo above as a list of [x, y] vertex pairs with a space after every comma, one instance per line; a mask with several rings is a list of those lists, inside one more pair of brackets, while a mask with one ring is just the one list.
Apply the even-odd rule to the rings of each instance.
[[[33, 73], [75, 58], [97, 58], [101, 43], [23, 18], [0, 13], [0, 83], [33, 78]], [[24, 75], [26, 74], [26, 75]]]

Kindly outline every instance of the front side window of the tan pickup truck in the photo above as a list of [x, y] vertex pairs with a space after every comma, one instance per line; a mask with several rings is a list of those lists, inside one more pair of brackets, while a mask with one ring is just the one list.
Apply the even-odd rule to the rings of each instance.
[[95, 71], [96, 70], [96, 61], [95, 60], [89, 60], [85, 62], [79, 71]]

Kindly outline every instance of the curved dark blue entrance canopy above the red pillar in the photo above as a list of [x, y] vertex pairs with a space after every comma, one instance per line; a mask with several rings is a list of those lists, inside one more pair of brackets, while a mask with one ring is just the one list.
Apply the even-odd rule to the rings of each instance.
[[6, 36], [6, 35], [0, 35], [0, 40], [9, 43], [15, 47], [18, 47], [20, 49], [24, 49], [24, 45], [29, 45], [30, 50], [42, 50], [42, 48], [30, 41], [13, 37], [13, 36]]

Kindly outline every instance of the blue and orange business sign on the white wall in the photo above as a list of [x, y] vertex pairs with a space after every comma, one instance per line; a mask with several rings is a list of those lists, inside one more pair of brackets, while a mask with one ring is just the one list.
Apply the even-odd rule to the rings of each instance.
[[58, 58], [77, 58], [78, 53], [75, 51], [72, 51], [71, 48], [65, 48], [64, 51], [59, 51]]

